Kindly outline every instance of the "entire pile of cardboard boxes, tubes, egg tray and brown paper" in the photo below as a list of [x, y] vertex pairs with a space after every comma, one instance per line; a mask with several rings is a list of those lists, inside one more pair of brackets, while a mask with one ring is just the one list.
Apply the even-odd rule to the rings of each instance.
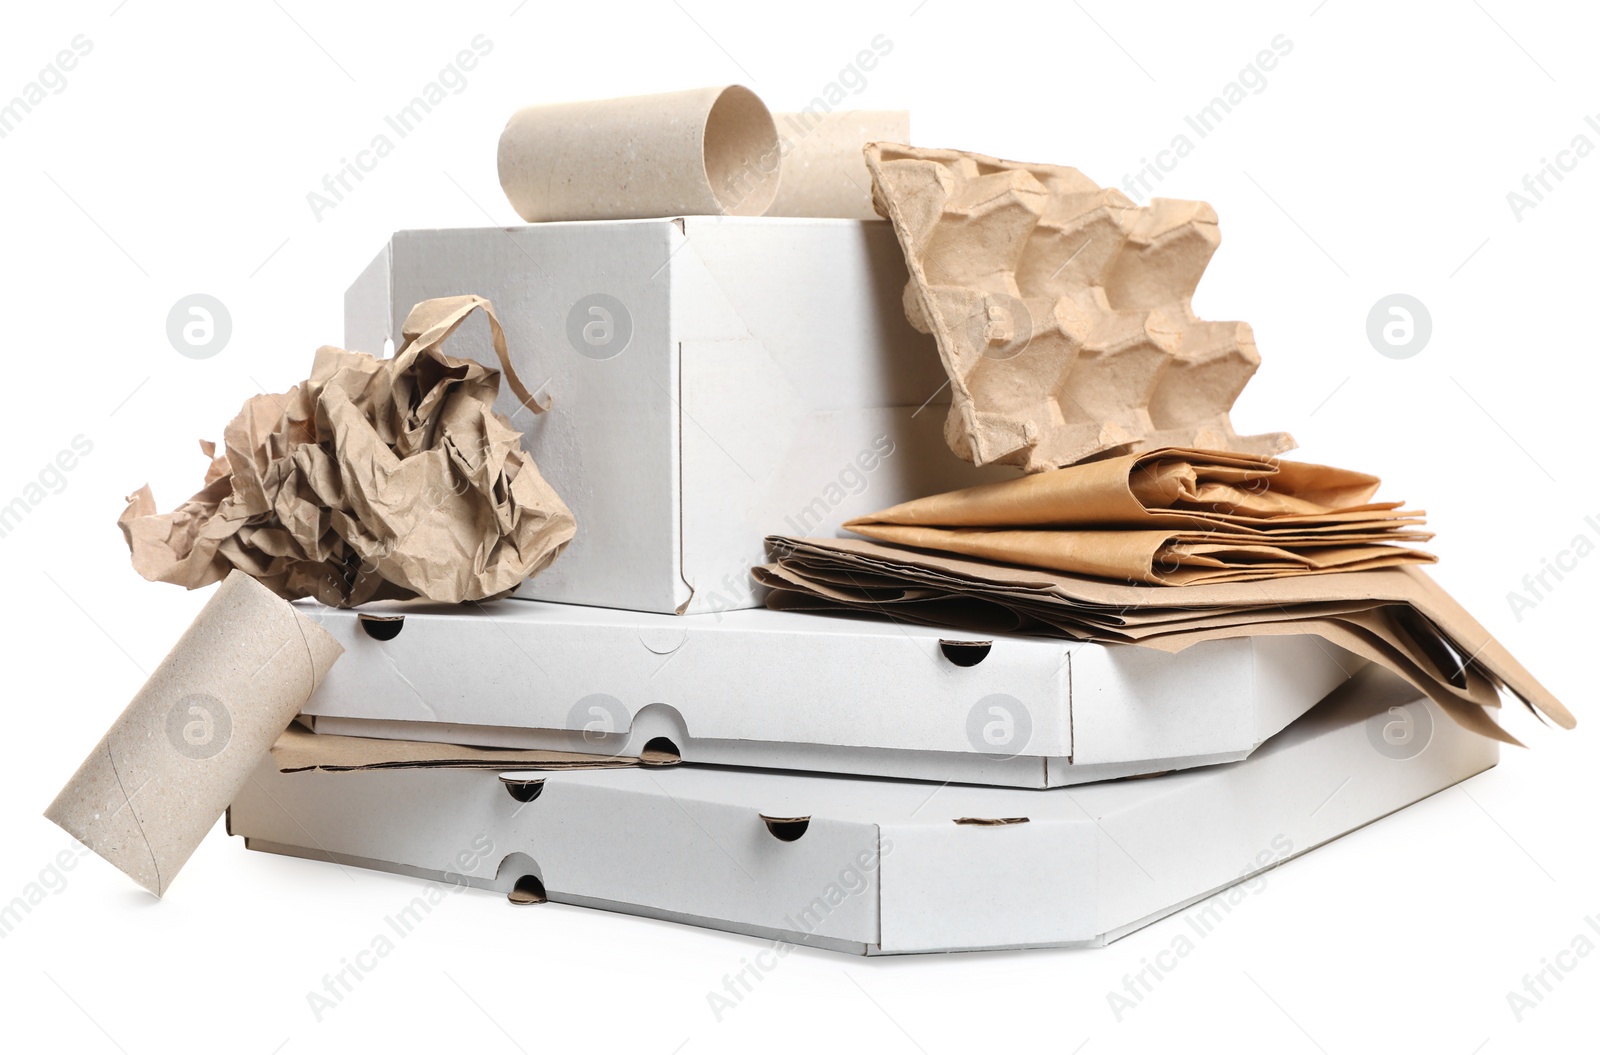
[[226, 808], [779, 951], [1104, 945], [1493, 767], [1502, 693], [1573, 725], [1421, 511], [1234, 431], [1211, 207], [909, 138], [515, 114], [525, 226], [395, 234], [363, 351], [130, 498], [221, 586], [48, 816], [158, 895]]

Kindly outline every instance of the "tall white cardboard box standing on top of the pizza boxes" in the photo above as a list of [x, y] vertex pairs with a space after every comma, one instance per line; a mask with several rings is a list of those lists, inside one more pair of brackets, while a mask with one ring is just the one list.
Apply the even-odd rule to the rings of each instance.
[[[688, 216], [402, 231], [346, 293], [346, 346], [402, 341], [416, 301], [494, 303], [549, 413], [498, 408], [578, 536], [522, 596], [637, 612], [757, 602], [771, 533], [1014, 472], [944, 443], [933, 338], [906, 322], [886, 223]], [[445, 346], [494, 365], [474, 317]]]

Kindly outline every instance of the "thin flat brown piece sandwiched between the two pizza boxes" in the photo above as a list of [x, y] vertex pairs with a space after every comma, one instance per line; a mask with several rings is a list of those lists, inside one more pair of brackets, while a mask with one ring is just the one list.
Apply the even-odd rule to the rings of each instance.
[[392, 768], [493, 768], [493, 770], [581, 770], [666, 765], [677, 759], [578, 754], [517, 748], [469, 748], [416, 740], [379, 740], [314, 733], [299, 722], [290, 725], [272, 744], [272, 762], [280, 773], [326, 770], [349, 773]]

